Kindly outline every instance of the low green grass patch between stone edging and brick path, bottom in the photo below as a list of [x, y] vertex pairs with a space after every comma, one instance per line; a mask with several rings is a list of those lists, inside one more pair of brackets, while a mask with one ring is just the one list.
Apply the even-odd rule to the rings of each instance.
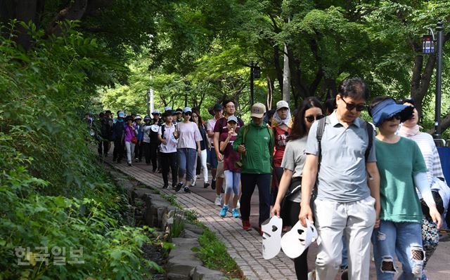
[[198, 242], [200, 248], [193, 248], [193, 251], [197, 252], [205, 267], [224, 272], [227, 279], [243, 279], [236, 261], [230, 257], [225, 244], [217, 238], [214, 232], [205, 229], [199, 236]]

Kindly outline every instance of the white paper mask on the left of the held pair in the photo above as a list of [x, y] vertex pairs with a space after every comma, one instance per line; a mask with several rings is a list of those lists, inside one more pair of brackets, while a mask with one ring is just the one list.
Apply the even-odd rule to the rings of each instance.
[[274, 258], [281, 249], [281, 229], [283, 220], [274, 216], [264, 221], [262, 230], [262, 257], [266, 260]]

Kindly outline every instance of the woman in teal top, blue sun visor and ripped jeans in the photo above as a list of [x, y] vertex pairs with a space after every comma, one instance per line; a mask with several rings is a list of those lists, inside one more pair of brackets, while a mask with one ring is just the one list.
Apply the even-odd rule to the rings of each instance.
[[394, 279], [394, 257], [403, 272], [398, 279], [422, 276], [425, 253], [422, 246], [422, 210], [416, 189], [430, 208], [437, 227], [441, 218], [433, 200], [427, 168], [416, 142], [396, 135], [400, 121], [411, 118], [413, 107], [397, 105], [389, 97], [375, 98], [369, 107], [373, 123], [379, 128], [375, 140], [380, 172], [380, 227], [372, 235], [377, 278]]

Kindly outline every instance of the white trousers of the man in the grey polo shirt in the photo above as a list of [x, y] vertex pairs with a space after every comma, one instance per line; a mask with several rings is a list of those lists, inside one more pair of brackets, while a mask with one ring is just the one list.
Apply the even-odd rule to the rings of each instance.
[[375, 199], [368, 196], [348, 203], [316, 199], [314, 206], [315, 225], [321, 237], [316, 279], [335, 279], [342, 258], [342, 234], [347, 238], [349, 249], [349, 279], [368, 279]]

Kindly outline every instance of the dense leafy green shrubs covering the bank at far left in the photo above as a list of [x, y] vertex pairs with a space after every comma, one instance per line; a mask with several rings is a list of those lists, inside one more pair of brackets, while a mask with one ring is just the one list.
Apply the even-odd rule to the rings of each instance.
[[[44, 39], [30, 25], [28, 53], [15, 30], [0, 39], [0, 279], [143, 279], [159, 269], [141, 258], [143, 229], [122, 225], [126, 198], [95, 161], [81, 121], [95, 89], [122, 69], [74, 26]], [[54, 265], [54, 253], [40, 262], [41, 246], [65, 248], [65, 265]], [[30, 265], [18, 265], [18, 247], [30, 247]], [[68, 262], [71, 248], [83, 249], [84, 263]]]

